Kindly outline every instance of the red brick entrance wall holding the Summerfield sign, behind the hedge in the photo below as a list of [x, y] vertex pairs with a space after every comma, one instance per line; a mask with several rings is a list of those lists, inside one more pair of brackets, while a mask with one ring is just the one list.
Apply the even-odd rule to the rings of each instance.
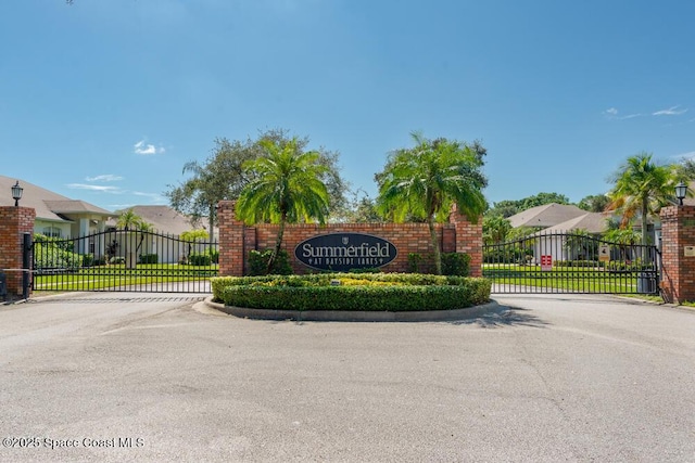
[[[218, 208], [219, 219], [219, 274], [240, 276], [249, 272], [249, 253], [275, 247], [278, 234], [277, 224], [258, 223], [253, 227], [244, 226], [236, 217], [235, 202], [223, 201]], [[482, 275], [482, 219], [471, 223], [466, 217], [452, 210], [448, 223], [437, 224], [437, 233], [443, 253], [466, 253], [471, 257], [470, 272], [473, 276]], [[393, 246], [395, 256], [389, 256], [389, 261], [376, 261], [370, 267], [380, 268], [384, 272], [407, 272], [409, 270], [408, 255], [419, 254], [426, 258], [421, 269], [432, 269], [432, 245], [427, 223], [315, 223], [288, 224], [285, 229], [282, 247], [292, 258], [292, 270], [295, 273], [316, 271], [316, 267], [294, 258], [295, 249], [302, 243], [311, 243], [318, 236], [339, 235], [356, 236], [369, 235]], [[367, 243], [368, 241], [364, 241]], [[359, 241], [362, 246], [363, 241]], [[326, 246], [325, 246], [326, 247]], [[331, 246], [328, 246], [331, 247]], [[337, 246], [332, 246], [337, 247]], [[336, 253], [342, 253], [336, 250]], [[357, 254], [377, 253], [377, 250], [345, 250]], [[363, 256], [364, 257], [364, 256]], [[393, 258], [391, 258], [393, 257]], [[386, 259], [386, 256], [383, 256]], [[318, 262], [317, 263], [324, 263]], [[312, 268], [314, 267], [314, 268]], [[350, 266], [349, 266], [350, 267]], [[369, 267], [358, 262], [353, 268]], [[320, 267], [319, 267], [320, 268]]]

